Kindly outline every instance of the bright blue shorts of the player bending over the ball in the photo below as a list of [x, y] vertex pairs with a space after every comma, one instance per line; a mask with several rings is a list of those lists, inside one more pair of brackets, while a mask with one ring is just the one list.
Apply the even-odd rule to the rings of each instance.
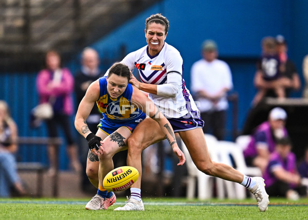
[[109, 123], [106, 119], [101, 118], [100, 124], [98, 125], [98, 128], [101, 129], [104, 133], [107, 135], [112, 134], [114, 131], [116, 131], [118, 128], [126, 127], [130, 130], [130, 132], [133, 132], [133, 130], [136, 128], [136, 126], [143, 121], [143, 119], [146, 117], [144, 116], [138, 118], [136, 121], [129, 122], [129, 123]]

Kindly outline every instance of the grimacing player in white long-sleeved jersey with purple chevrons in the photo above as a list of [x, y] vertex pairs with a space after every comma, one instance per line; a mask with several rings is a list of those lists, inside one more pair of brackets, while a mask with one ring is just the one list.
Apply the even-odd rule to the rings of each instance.
[[[202, 131], [203, 121], [185, 87], [183, 59], [177, 49], [165, 42], [168, 28], [169, 22], [161, 14], [146, 19], [147, 45], [129, 53], [121, 61], [130, 70], [137, 68], [139, 71], [141, 82], [133, 78], [130, 83], [149, 93], [149, 98], [181, 136], [199, 170], [245, 186], [255, 195], [260, 211], [265, 211], [269, 201], [263, 178], [248, 177], [228, 165], [211, 161]], [[127, 165], [137, 168], [141, 175], [142, 150], [163, 139], [165, 135], [159, 125], [152, 118], [146, 118], [128, 138]], [[141, 210], [140, 186], [141, 178], [131, 186], [131, 196], [126, 205], [115, 210]]]

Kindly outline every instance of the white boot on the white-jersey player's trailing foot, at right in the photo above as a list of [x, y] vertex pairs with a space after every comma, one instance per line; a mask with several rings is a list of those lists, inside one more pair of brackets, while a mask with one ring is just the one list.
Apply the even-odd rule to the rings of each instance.
[[264, 187], [264, 179], [262, 177], [252, 177], [252, 179], [255, 179], [256, 185], [249, 191], [253, 193], [257, 199], [259, 210], [261, 212], [265, 212], [267, 210], [269, 200]]

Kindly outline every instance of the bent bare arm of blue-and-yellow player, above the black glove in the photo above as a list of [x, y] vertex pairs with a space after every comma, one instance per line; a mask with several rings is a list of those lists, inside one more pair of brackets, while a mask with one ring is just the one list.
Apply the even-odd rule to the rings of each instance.
[[99, 81], [97, 80], [89, 86], [85, 96], [83, 97], [82, 101], [79, 104], [75, 117], [75, 128], [84, 137], [86, 137], [89, 133], [91, 133], [86, 123], [86, 119], [89, 116], [93, 108], [93, 105], [98, 100], [99, 96], [100, 96], [100, 84]]

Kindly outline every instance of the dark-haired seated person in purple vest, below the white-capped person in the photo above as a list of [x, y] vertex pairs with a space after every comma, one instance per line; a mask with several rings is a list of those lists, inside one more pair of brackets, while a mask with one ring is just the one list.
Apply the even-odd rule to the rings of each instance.
[[265, 189], [269, 196], [297, 200], [300, 195], [306, 195], [306, 187], [301, 185], [301, 177], [296, 169], [296, 157], [291, 148], [288, 137], [277, 139], [275, 151], [271, 154], [263, 173]]

